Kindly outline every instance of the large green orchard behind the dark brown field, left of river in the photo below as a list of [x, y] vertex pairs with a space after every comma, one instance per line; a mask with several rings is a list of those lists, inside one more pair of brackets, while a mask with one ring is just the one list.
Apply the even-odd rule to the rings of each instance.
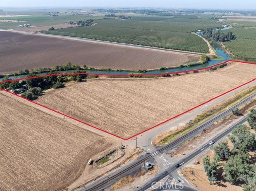
[[208, 53], [204, 40], [191, 32], [222, 23], [196, 16], [133, 16], [130, 20], [97, 20], [95, 26], [45, 31], [54, 35]]

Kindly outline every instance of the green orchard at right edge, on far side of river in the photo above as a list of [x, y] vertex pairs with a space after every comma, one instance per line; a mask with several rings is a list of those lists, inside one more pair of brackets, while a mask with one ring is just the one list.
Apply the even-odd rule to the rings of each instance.
[[256, 29], [229, 29], [224, 32], [232, 31], [237, 39], [224, 42], [224, 45], [239, 59], [256, 60]]

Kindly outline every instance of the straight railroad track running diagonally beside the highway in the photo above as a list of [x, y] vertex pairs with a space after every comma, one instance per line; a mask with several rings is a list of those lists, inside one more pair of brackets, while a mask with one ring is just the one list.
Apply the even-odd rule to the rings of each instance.
[[166, 150], [167, 148], [174, 146], [177, 143], [182, 143], [186, 138], [188, 138], [190, 135], [194, 134], [195, 132], [197, 132], [198, 130], [201, 130], [203, 128], [208, 127], [209, 125], [211, 125], [213, 122], [220, 120], [221, 118], [223, 118], [224, 116], [227, 116], [228, 114], [230, 114], [230, 112], [232, 112], [232, 109], [237, 108], [239, 106], [241, 106], [242, 104], [248, 102], [249, 100], [251, 100], [254, 96], [256, 96], [256, 93], [248, 96], [247, 98], [245, 98], [244, 100], [242, 100], [241, 102], [239, 102], [238, 104], [235, 104], [234, 106], [230, 107], [228, 110], [221, 112], [220, 114], [218, 114], [217, 116], [211, 118], [210, 120], [204, 122], [203, 124], [201, 124], [200, 126], [198, 126], [197, 128], [194, 128], [193, 130], [191, 130], [190, 132], [188, 132], [187, 134], [184, 134], [182, 136], [180, 136], [179, 138], [177, 138], [176, 140], [170, 142], [169, 144], [167, 144], [166, 146], [163, 146], [162, 148], [160, 148], [159, 150], [156, 150], [154, 152], [152, 152], [150, 155], [140, 159], [138, 162], [134, 163], [133, 165], [123, 169], [122, 171], [120, 171], [119, 173], [116, 173], [115, 175], [113, 175], [112, 177], [109, 177], [108, 179], [102, 181], [101, 183], [93, 186], [92, 188], [89, 189], [82, 189], [83, 191], [95, 191], [96, 189], [98, 189], [99, 187], [101, 187], [102, 185], [108, 183], [109, 181], [115, 179], [116, 177], [124, 174], [125, 172], [131, 170], [132, 168], [140, 165], [141, 163], [144, 163], [145, 160], [148, 160], [154, 156], [156, 156], [157, 154], [159, 154], [160, 152]]

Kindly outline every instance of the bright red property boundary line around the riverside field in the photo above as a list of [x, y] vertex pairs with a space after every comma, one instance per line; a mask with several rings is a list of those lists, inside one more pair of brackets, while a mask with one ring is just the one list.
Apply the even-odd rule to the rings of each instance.
[[[252, 62], [237, 61], [237, 60], [228, 60], [228, 61], [225, 61], [225, 62], [216, 64], [216, 65], [212, 65], [212, 66], [206, 67], [206, 68], [194, 69], [194, 70], [187, 70], [187, 71], [180, 71], [180, 72], [172, 72], [172, 73], [163, 73], [163, 74], [108, 75], [108, 74], [98, 74], [98, 73], [90, 73], [90, 74], [88, 74], [88, 73], [54, 73], [54, 74], [42, 75], [42, 76], [36, 76], [36, 77], [26, 77], [26, 78], [20, 78], [20, 79], [11, 79], [11, 80], [6, 80], [6, 81], [0, 81], [0, 83], [12, 82], [12, 81], [20, 81], [20, 80], [26, 80], [26, 79], [42, 78], [42, 77], [48, 77], [48, 76], [54, 76], [54, 75], [99, 75], [99, 76], [110, 76], [110, 77], [112, 77], [112, 76], [113, 76], [113, 77], [118, 77], [118, 76], [159, 76], [159, 75], [166, 75], [166, 74], [188, 73], [188, 72], [206, 70], [206, 69], [210, 69], [210, 68], [212, 68], [212, 67], [218, 66], [218, 65], [222, 65], [222, 64], [228, 63], [228, 62], [238, 62], [238, 63], [246, 63], [246, 64], [253, 64], [253, 65], [256, 65], [256, 63], [252, 63]], [[96, 127], [96, 126], [93, 126], [93, 125], [91, 125], [91, 124], [85, 123], [85, 122], [83, 122], [83, 121], [81, 121], [81, 120], [78, 120], [78, 119], [76, 119], [76, 118], [73, 118], [73, 117], [71, 117], [71, 116], [68, 116], [68, 115], [66, 115], [66, 114], [64, 114], [64, 113], [61, 113], [61, 112], [59, 112], [59, 111], [57, 111], [57, 110], [54, 110], [54, 109], [52, 109], [52, 108], [49, 108], [49, 107], [47, 107], [47, 106], [44, 106], [44, 105], [39, 104], [39, 103], [37, 103], [37, 102], [34, 102], [34, 101], [32, 101], [32, 100], [29, 100], [29, 99], [27, 99], [27, 98], [24, 98], [24, 97], [22, 97], [22, 96], [20, 96], [20, 95], [16, 95], [15, 93], [12, 93], [12, 92], [7, 91], [7, 90], [2, 89], [2, 88], [0, 88], [0, 89], [1, 89], [2, 91], [5, 91], [5, 92], [10, 93], [10, 94], [12, 94], [12, 95], [15, 95], [15, 96], [18, 96], [18, 97], [20, 97], [20, 98], [23, 98], [24, 100], [27, 100], [27, 101], [29, 101], [29, 102], [32, 102], [32, 103], [38, 105], [38, 106], [41, 106], [41, 107], [43, 107], [43, 108], [46, 108], [46, 109], [48, 109], [48, 110], [51, 110], [51, 111], [56, 112], [56, 113], [58, 113], [58, 114], [61, 114], [62, 116], [66, 116], [66, 117], [68, 117], [68, 118], [70, 118], [70, 119], [73, 119], [73, 120], [75, 120], [75, 121], [77, 121], [77, 122], [80, 122], [80, 123], [82, 123], [82, 124], [85, 124], [85, 125], [87, 125], [87, 126], [90, 126], [90, 127], [92, 127], [92, 128], [95, 128], [95, 129], [97, 129], [97, 130], [100, 130], [100, 131], [102, 131], [102, 132], [104, 132], [104, 133], [107, 133], [107, 134], [109, 134], [109, 135], [111, 135], [111, 136], [114, 136], [114, 137], [116, 137], [116, 138], [119, 138], [119, 139], [121, 139], [121, 140], [129, 140], [129, 139], [134, 138], [134, 137], [136, 137], [136, 136], [138, 136], [138, 135], [140, 135], [140, 134], [142, 134], [142, 133], [144, 133], [144, 132], [147, 132], [147, 131], [149, 131], [149, 130], [151, 130], [151, 129], [153, 129], [153, 128], [156, 128], [157, 126], [160, 126], [160, 125], [162, 125], [162, 124], [164, 124], [164, 123], [166, 123], [166, 122], [168, 122], [168, 121], [170, 121], [170, 120], [172, 120], [172, 119], [174, 119], [174, 118], [177, 118], [177, 117], [179, 117], [179, 116], [181, 116], [181, 115], [183, 115], [183, 114], [185, 114], [185, 113], [187, 113], [187, 112], [190, 112], [191, 110], [194, 110], [194, 109], [196, 109], [196, 108], [198, 108], [198, 107], [200, 107], [200, 106], [202, 106], [202, 105], [204, 105], [204, 104], [206, 104], [206, 103], [208, 103], [208, 102], [211, 102], [212, 100], [214, 100], [214, 99], [216, 99], [216, 98], [219, 98], [219, 97], [221, 97], [221, 96], [223, 96], [223, 95], [225, 95], [225, 94], [228, 94], [228, 93], [230, 93], [230, 92], [232, 92], [232, 91], [234, 91], [234, 90], [236, 90], [236, 89], [238, 89], [238, 88], [240, 88], [240, 87], [243, 87], [244, 85], [247, 85], [247, 84], [249, 84], [249, 83], [251, 83], [251, 82], [253, 82], [253, 81], [255, 81], [255, 80], [256, 80], [256, 78], [255, 78], [255, 79], [252, 79], [251, 81], [248, 81], [248, 82], [246, 82], [246, 83], [244, 83], [244, 84], [242, 84], [242, 85], [240, 85], [240, 86], [238, 86], [238, 87], [235, 87], [235, 88], [233, 88], [233, 89], [231, 89], [231, 90], [229, 90], [229, 91], [226, 91], [225, 93], [222, 93], [222, 94], [220, 94], [220, 95], [218, 95], [218, 96], [216, 96], [216, 97], [214, 97], [214, 98], [211, 98], [210, 100], [208, 100], [208, 101], [206, 101], [206, 102], [203, 102], [202, 104], [199, 104], [198, 106], [195, 106], [195, 107], [193, 107], [193, 108], [190, 108], [189, 110], [186, 110], [186, 111], [184, 111], [184, 112], [182, 112], [182, 113], [180, 113], [180, 114], [178, 114], [178, 115], [176, 115], [176, 116], [174, 116], [174, 117], [172, 117], [172, 118], [169, 118], [169, 119], [167, 119], [167, 120], [165, 120], [165, 121], [163, 121], [163, 122], [161, 122], [161, 123], [159, 123], [159, 124], [157, 124], [157, 125], [155, 125], [155, 126], [152, 126], [152, 127], [148, 128], [148, 129], [146, 129], [146, 130], [144, 130], [144, 131], [142, 131], [142, 132], [140, 132], [140, 133], [138, 133], [138, 134], [135, 134], [135, 135], [133, 135], [133, 136], [130, 136], [130, 137], [128, 137], [128, 138], [122, 138], [122, 137], [120, 137], [120, 136], [118, 136], [118, 135], [112, 134], [112, 133], [110, 133], [110, 132], [108, 132], [108, 131], [106, 131], [106, 130], [102, 130], [102, 129]]]

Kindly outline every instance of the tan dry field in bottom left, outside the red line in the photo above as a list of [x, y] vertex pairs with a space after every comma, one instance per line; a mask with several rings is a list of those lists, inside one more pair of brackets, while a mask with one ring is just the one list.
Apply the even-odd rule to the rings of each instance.
[[[60, 190], [108, 148], [101, 136], [0, 94], [0, 190]], [[4, 100], [4, 101], [2, 101]]]

